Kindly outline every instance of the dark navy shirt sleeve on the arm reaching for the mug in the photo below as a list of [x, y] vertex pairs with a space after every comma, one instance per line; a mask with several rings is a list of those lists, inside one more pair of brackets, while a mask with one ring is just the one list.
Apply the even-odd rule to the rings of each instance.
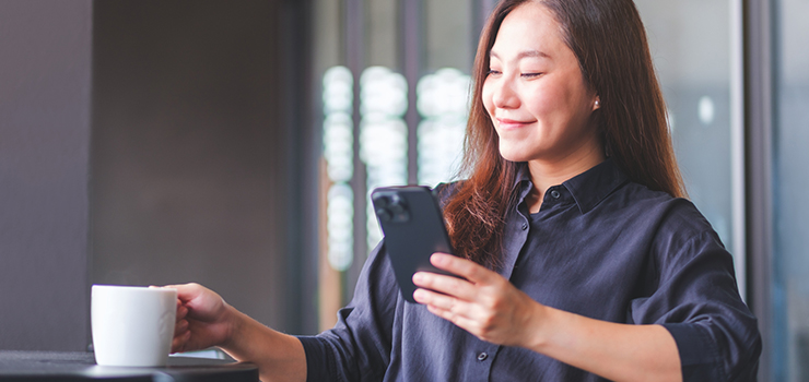
[[306, 354], [307, 381], [379, 381], [390, 362], [399, 287], [379, 243], [363, 265], [351, 302], [335, 327], [298, 336]]

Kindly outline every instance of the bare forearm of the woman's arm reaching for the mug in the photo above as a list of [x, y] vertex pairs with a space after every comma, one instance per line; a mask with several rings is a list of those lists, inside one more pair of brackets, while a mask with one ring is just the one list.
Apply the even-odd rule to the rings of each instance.
[[306, 381], [306, 354], [301, 342], [271, 330], [233, 307], [228, 341], [222, 349], [239, 361], [258, 366], [259, 378], [270, 381]]

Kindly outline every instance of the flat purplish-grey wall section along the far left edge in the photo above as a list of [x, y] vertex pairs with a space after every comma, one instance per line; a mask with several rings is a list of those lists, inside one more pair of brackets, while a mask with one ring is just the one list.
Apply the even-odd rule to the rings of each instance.
[[0, 1], [0, 349], [86, 346], [91, 23]]

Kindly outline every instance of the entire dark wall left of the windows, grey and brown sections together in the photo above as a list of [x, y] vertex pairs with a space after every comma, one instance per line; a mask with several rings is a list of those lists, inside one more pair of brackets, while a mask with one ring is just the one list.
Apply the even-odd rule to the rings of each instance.
[[85, 349], [91, 284], [312, 332], [306, 3], [0, 0], [0, 349]]

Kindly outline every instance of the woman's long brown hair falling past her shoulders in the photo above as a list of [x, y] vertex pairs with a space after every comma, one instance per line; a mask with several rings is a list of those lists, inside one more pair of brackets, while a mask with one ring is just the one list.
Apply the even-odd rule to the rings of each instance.
[[456, 253], [489, 267], [499, 264], [505, 217], [516, 203], [514, 186], [525, 163], [500, 155], [481, 93], [500, 25], [527, 1], [538, 1], [555, 16], [585, 81], [598, 94], [601, 105], [591, 118], [607, 156], [631, 180], [672, 196], [685, 195], [646, 33], [632, 0], [503, 0], [483, 28], [472, 69], [461, 165], [469, 178], [444, 206]]

